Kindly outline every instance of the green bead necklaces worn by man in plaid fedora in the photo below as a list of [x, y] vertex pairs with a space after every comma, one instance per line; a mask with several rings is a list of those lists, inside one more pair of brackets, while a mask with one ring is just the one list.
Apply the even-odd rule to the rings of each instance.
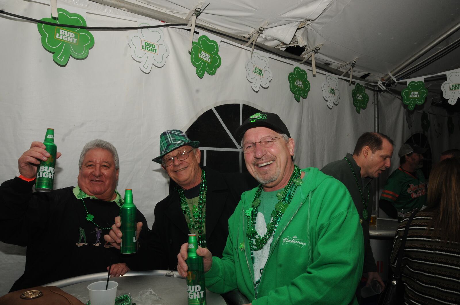
[[[203, 169], [201, 169], [201, 183], [200, 183], [200, 194], [198, 197], [198, 206], [194, 206], [192, 215], [190, 214], [189, 205], [187, 204], [187, 200], [184, 195], [184, 190], [182, 187], [176, 186], [176, 190], [179, 193], [180, 198], [180, 208], [182, 209], [182, 213], [184, 214], [185, 218], [188, 218], [189, 223], [187, 224], [189, 227], [189, 233], [198, 232], [198, 245], [200, 247], [206, 247], [206, 238], [205, 234], [203, 234], [203, 223], [206, 219], [206, 214], [203, 214], [203, 208], [206, 204], [206, 190], [207, 190], [207, 183], [206, 183], [206, 173]], [[190, 232], [193, 229], [193, 232]]]

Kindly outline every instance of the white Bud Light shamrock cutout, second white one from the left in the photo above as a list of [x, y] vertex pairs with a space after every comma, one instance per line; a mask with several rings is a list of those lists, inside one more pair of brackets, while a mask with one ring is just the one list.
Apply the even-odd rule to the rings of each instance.
[[246, 78], [253, 84], [254, 91], [258, 92], [260, 87], [268, 88], [272, 77], [267, 57], [254, 53], [253, 58], [246, 62]]

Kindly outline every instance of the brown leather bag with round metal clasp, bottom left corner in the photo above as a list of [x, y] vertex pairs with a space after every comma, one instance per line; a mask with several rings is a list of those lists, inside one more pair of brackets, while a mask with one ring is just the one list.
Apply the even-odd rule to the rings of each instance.
[[[35, 290], [35, 291], [34, 291]], [[40, 292], [42, 293], [40, 295]], [[23, 297], [21, 297], [21, 295]], [[37, 296], [40, 295], [40, 296]], [[26, 299], [24, 299], [24, 297]], [[84, 305], [56, 286], [38, 286], [10, 292], [0, 297], [0, 305]]]

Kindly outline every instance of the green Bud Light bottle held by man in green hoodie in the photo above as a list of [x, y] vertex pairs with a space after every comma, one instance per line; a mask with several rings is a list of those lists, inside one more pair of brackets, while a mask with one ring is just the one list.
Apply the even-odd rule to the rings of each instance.
[[189, 266], [189, 270], [187, 271], [187, 298], [189, 305], [206, 305], [203, 257], [196, 254], [196, 249], [198, 249], [196, 233], [189, 234], [188, 258], [186, 260]]

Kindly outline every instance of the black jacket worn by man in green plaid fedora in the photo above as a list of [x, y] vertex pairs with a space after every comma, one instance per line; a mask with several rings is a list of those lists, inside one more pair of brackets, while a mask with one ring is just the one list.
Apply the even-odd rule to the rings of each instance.
[[[206, 172], [206, 240], [213, 256], [222, 257], [228, 236], [228, 219], [240, 201], [242, 192], [257, 181], [248, 174], [221, 174], [203, 167]], [[174, 183], [174, 182], [172, 182]], [[155, 222], [147, 240], [139, 239], [140, 248], [128, 266], [132, 270], [176, 270], [177, 254], [188, 242], [189, 230], [177, 191], [155, 206]]]

